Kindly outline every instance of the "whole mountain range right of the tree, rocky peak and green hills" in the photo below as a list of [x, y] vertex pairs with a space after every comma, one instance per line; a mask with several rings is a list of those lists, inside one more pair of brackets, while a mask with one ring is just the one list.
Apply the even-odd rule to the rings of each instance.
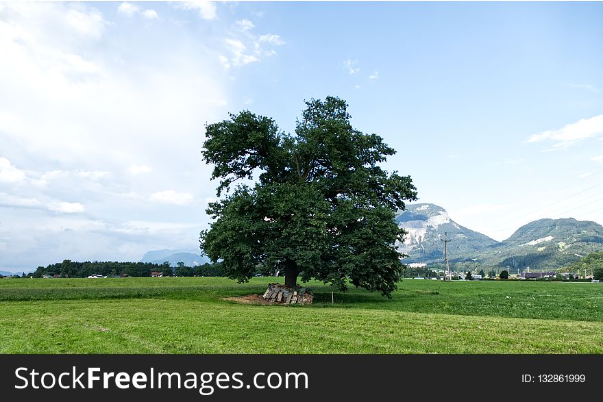
[[396, 221], [408, 231], [404, 243], [398, 244], [399, 250], [409, 255], [405, 263], [443, 262], [444, 232], [452, 239], [448, 243], [450, 263], [469, 268], [508, 266], [512, 273], [528, 266], [556, 269], [603, 251], [603, 226], [574, 218], [530, 222], [503, 242], [458, 225], [434, 204], [408, 205], [397, 214]]

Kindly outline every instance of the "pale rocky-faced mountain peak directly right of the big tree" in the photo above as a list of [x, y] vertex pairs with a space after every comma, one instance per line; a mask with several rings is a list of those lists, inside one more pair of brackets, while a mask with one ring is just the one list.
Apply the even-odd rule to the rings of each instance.
[[441, 262], [444, 253], [444, 243], [447, 238], [450, 256], [473, 256], [485, 247], [497, 244], [488, 236], [467, 229], [452, 221], [444, 208], [438, 205], [419, 203], [408, 205], [404, 211], [399, 211], [395, 221], [408, 234], [404, 243], [398, 243], [399, 251], [409, 255], [405, 262]]

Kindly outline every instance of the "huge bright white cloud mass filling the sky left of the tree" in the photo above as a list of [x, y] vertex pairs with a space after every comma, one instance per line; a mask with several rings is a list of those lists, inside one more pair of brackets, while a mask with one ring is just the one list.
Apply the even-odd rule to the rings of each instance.
[[[0, 266], [65, 255], [136, 260], [150, 249], [194, 247], [201, 223], [119, 229], [132, 219], [176, 225], [191, 213], [206, 225], [205, 206], [190, 194], [156, 195], [167, 204], [149, 199], [157, 189], [188, 188], [192, 177], [209, 180], [199, 129], [226, 116], [224, 51], [218, 30], [199, 37], [191, 25], [156, 24], [134, 35], [90, 3], [0, 2], [0, 242], [8, 249]], [[150, 161], [152, 176], [130, 174], [134, 162]], [[201, 188], [199, 199], [211, 195]]]

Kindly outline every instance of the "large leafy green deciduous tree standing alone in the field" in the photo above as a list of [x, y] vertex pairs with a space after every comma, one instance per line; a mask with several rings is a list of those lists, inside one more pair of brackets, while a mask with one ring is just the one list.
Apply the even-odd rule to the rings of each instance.
[[404, 256], [394, 213], [417, 199], [416, 188], [379, 166], [395, 150], [354, 129], [345, 101], [306, 105], [294, 135], [249, 111], [207, 125], [202, 154], [223, 197], [208, 206], [215, 221], [201, 232], [201, 249], [238, 281], [263, 265], [284, 272], [286, 286], [301, 274], [389, 296]]

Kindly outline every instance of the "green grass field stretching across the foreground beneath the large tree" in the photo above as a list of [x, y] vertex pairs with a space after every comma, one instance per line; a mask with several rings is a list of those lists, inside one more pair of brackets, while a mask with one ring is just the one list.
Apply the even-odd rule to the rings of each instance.
[[[280, 278], [282, 281], [282, 278]], [[406, 279], [392, 299], [275, 278], [2, 279], [0, 353], [603, 353], [603, 284]]]

